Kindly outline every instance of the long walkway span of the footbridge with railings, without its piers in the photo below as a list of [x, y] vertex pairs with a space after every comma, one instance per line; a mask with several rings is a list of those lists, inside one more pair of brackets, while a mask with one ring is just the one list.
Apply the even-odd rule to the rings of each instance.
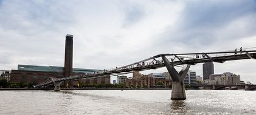
[[[256, 50], [251, 51], [225, 51], [225, 52], [214, 52], [214, 53], [187, 53], [187, 54], [159, 54], [143, 61], [135, 62], [130, 65], [125, 65], [119, 68], [112, 68], [106, 71], [102, 71], [95, 74], [78, 74], [70, 77], [63, 77], [60, 79], [55, 78], [55, 82], [62, 82], [64, 80], [76, 80], [83, 78], [93, 78], [93, 77], [106, 77], [106, 76], [117, 76], [121, 74], [132, 73], [133, 71], [144, 71], [150, 69], [157, 69], [164, 66], [161, 56], [170, 56], [168, 60], [172, 65], [195, 65], [203, 62], [220, 62], [225, 61], [235, 61], [241, 59], [256, 59]], [[47, 79], [46, 82], [42, 84], [35, 85], [35, 87], [49, 86], [53, 85], [54, 82]]]

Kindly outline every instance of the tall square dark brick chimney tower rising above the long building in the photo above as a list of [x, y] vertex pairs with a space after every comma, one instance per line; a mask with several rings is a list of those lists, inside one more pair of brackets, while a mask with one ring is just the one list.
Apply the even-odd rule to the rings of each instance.
[[[64, 77], [72, 76], [73, 68], [73, 35], [66, 35]], [[65, 86], [72, 86], [71, 80], [64, 83]]]

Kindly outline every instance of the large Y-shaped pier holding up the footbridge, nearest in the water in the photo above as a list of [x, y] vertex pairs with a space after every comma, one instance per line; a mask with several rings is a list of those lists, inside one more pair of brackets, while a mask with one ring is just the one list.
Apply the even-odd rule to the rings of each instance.
[[168, 59], [165, 56], [162, 56], [162, 59], [164, 61], [164, 65], [167, 68], [171, 79], [173, 79], [173, 85], [171, 88], [171, 99], [172, 100], [185, 100], [186, 94], [185, 94], [185, 87], [184, 87], [184, 79], [187, 75], [187, 71], [189, 71], [190, 65], [186, 65], [184, 68], [182, 68], [181, 71], [176, 71], [176, 69], [173, 67], [173, 65], [168, 61]]

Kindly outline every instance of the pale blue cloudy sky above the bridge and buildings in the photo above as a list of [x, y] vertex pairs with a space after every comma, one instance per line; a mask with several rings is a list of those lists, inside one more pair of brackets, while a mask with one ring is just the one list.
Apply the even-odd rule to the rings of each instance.
[[[256, 50], [256, 1], [0, 0], [0, 70], [63, 67], [67, 34], [74, 35], [75, 68], [122, 67], [161, 53]], [[256, 84], [254, 59], [214, 66]], [[201, 75], [202, 64], [190, 70]]]

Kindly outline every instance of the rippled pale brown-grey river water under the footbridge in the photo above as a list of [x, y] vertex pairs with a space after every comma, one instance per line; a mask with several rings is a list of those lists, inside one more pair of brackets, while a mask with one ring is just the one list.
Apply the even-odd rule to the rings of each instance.
[[186, 90], [0, 91], [0, 114], [256, 114], [256, 91]]

